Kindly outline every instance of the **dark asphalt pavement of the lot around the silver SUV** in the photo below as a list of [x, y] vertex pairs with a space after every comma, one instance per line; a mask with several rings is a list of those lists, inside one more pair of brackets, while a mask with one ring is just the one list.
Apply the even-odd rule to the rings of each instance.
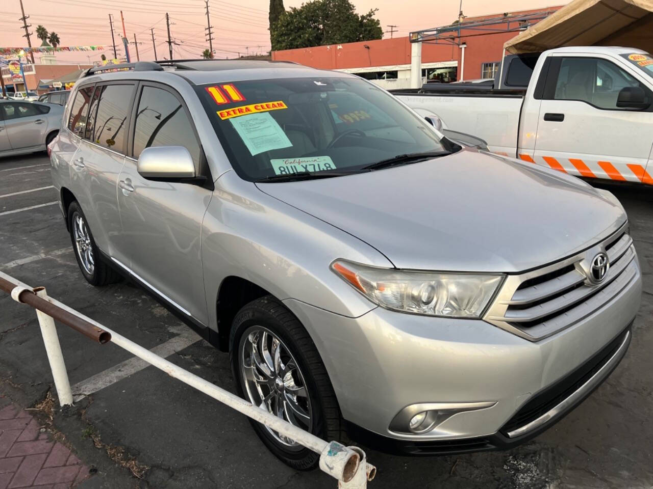
[[[47, 156], [0, 159], [0, 270], [45, 286], [52, 297], [233, 391], [229, 355], [200, 340], [145, 291], [127, 282], [86, 283], [51, 185]], [[596, 185], [624, 203], [644, 274], [625, 359], [565, 419], [511, 451], [409, 458], [364, 447], [378, 469], [370, 488], [653, 487], [653, 188]], [[58, 331], [80, 398], [75, 409], [55, 413], [52, 424], [43, 422], [91, 467], [80, 488], [336, 486], [320, 471], [281, 464], [235, 411], [115, 345], [94, 344], [61, 325]], [[0, 293], [0, 396], [31, 408], [50, 389], [35, 312]]]

